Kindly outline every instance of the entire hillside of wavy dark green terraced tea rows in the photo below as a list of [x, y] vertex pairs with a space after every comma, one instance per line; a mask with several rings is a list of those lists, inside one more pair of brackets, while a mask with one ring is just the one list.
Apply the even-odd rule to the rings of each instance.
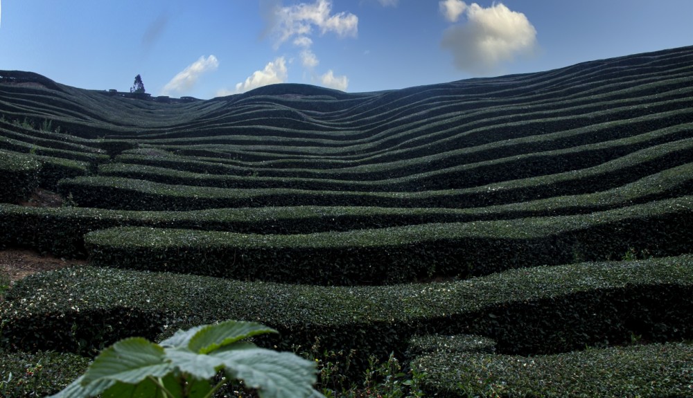
[[231, 318], [426, 396], [693, 397], [693, 47], [187, 102], [0, 71], [0, 170], [0, 246], [89, 260], [7, 292], [0, 377]]

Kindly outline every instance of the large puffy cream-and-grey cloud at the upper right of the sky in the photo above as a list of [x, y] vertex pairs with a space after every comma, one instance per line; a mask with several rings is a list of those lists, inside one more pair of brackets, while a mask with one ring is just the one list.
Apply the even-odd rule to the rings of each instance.
[[[459, 7], [458, 3], [464, 7], [455, 16], [460, 9], [455, 8]], [[453, 54], [457, 69], [487, 75], [495, 72], [500, 64], [511, 62], [518, 55], [531, 55], [536, 49], [534, 26], [523, 13], [511, 11], [502, 3], [493, 3], [489, 8], [477, 3], [467, 6], [457, 0], [439, 4], [448, 20], [466, 16], [466, 23], [450, 26], [441, 40], [442, 48]]]

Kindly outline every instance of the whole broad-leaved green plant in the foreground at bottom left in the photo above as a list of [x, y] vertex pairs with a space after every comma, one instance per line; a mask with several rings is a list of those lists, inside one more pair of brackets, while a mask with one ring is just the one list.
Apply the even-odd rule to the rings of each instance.
[[[313, 389], [315, 363], [243, 341], [277, 333], [258, 323], [229, 320], [179, 330], [159, 344], [125, 338], [99, 354], [81, 377], [51, 398], [207, 398], [243, 381], [261, 398], [323, 397]], [[226, 377], [211, 380], [223, 370]]]

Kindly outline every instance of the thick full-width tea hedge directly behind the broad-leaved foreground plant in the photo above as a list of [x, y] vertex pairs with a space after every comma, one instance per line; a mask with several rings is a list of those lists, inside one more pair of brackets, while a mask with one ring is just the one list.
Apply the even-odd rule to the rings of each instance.
[[477, 334], [502, 354], [693, 337], [693, 257], [511, 270], [482, 278], [388, 287], [238, 282], [91, 266], [31, 275], [0, 307], [6, 348], [93, 353], [125, 336], [158, 340], [216, 320], [281, 332], [279, 350], [354, 348], [401, 355], [421, 334]]

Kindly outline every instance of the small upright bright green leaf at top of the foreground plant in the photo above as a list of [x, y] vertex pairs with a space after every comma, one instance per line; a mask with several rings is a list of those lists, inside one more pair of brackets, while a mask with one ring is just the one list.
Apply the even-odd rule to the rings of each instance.
[[244, 338], [265, 333], [277, 333], [277, 331], [255, 322], [227, 320], [216, 325], [207, 325], [200, 329], [190, 339], [188, 349], [198, 354], [207, 354]]

